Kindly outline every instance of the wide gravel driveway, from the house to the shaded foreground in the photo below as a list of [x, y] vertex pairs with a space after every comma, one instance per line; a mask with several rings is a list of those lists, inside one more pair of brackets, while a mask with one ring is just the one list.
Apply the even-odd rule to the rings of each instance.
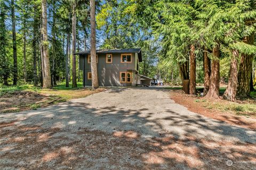
[[256, 165], [255, 131], [190, 112], [165, 89], [110, 88], [35, 111], [1, 114], [0, 122], [1, 169]]

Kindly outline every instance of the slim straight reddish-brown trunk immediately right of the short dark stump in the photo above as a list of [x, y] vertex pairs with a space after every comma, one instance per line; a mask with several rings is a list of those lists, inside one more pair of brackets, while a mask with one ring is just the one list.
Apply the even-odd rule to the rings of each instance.
[[196, 95], [196, 54], [194, 45], [190, 46], [189, 94]]

